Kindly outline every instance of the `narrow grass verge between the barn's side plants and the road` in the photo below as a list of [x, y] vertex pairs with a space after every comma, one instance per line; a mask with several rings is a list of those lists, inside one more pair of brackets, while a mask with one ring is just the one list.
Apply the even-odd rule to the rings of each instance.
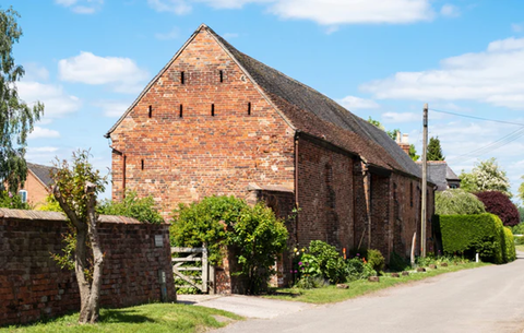
[[427, 272], [416, 273], [410, 272], [409, 276], [392, 277], [386, 273], [385, 276], [380, 276], [380, 282], [368, 282], [359, 280], [347, 283], [349, 288], [338, 289], [336, 286], [327, 286], [315, 289], [298, 289], [298, 288], [278, 288], [275, 289], [276, 295], [265, 296], [267, 298], [283, 299], [283, 300], [297, 300], [313, 304], [326, 304], [336, 302], [354, 298], [357, 296], [373, 293], [380, 289], [384, 289], [391, 286], [409, 283], [412, 281], [419, 281], [430, 276], [436, 276], [442, 273], [455, 272], [467, 269], [475, 269], [480, 266], [490, 265], [489, 263], [464, 263], [458, 265], [450, 265], [448, 267], [439, 266], [437, 270], [426, 269]]

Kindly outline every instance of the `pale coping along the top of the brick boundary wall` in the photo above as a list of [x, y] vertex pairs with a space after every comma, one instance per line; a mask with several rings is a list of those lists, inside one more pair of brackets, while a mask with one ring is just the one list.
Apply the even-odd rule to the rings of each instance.
[[[56, 221], [66, 222], [68, 218], [61, 212], [44, 212], [44, 211], [26, 211], [26, 210], [10, 210], [0, 209], [0, 218], [26, 219], [26, 221]], [[142, 224], [133, 217], [116, 216], [116, 215], [100, 215], [98, 221], [102, 223], [117, 223], [117, 224]]]

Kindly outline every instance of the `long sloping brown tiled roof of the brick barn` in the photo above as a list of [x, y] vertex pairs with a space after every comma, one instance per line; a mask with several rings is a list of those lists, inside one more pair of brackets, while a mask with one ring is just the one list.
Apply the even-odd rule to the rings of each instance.
[[326, 141], [358, 153], [369, 163], [421, 178], [420, 168], [388, 133], [315, 90], [240, 52], [213, 29], [205, 28], [223, 44], [297, 129], [325, 136]]

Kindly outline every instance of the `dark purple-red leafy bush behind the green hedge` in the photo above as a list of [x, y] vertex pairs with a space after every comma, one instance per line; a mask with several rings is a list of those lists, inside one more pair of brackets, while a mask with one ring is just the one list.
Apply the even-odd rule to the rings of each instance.
[[504, 226], [515, 226], [520, 223], [520, 214], [510, 198], [499, 191], [486, 191], [475, 193], [484, 203], [486, 212], [500, 217]]

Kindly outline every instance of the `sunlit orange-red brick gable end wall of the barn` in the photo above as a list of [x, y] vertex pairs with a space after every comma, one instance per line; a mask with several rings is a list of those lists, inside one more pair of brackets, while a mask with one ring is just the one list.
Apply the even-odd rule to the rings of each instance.
[[122, 195], [118, 152], [127, 156], [126, 188], [152, 194], [165, 216], [179, 202], [212, 194], [245, 198], [251, 182], [293, 189], [294, 134], [231, 58], [201, 31], [111, 133], [117, 151], [112, 198]]

